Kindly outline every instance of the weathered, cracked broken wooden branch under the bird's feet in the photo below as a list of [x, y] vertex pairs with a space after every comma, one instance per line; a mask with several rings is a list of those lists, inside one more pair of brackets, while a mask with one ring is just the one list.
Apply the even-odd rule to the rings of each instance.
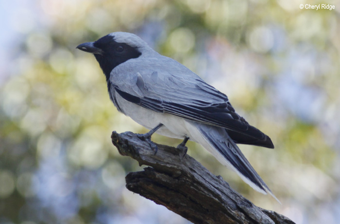
[[261, 209], [234, 191], [221, 176], [173, 147], [158, 145], [157, 154], [136, 134], [112, 133], [119, 153], [151, 167], [126, 176], [126, 188], [181, 215], [194, 224], [294, 224]]

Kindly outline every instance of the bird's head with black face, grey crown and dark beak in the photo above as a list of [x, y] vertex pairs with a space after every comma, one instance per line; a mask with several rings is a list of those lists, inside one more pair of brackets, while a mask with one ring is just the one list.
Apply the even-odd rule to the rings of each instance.
[[127, 32], [113, 32], [95, 42], [87, 42], [77, 46], [78, 49], [94, 54], [106, 80], [111, 71], [121, 63], [136, 59], [152, 50], [140, 37]]

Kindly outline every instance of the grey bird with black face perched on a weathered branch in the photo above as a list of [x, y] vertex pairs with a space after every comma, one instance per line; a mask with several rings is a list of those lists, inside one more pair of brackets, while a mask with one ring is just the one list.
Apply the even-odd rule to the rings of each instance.
[[[272, 191], [237, 144], [274, 148], [271, 138], [239, 116], [228, 97], [183, 64], [153, 50], [133, 33], [112, 32], [76, 47], [92, 53], [106, 77], [118, 111], [150, 131], [138, 136], [151, 141], [155, 132], [202, 145], [262, 194]], [[280, 202], [279, 202], [280, 203]]]

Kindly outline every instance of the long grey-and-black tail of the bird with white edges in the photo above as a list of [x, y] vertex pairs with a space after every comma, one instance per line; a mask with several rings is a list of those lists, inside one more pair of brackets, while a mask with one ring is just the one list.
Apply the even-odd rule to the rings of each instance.
[[271, 194], [281, 204], [224, 128], [205, 124], [196, 125], [196, 128], [202, 136], [202, 138], [196, 139], [197, 142], [204, 146], [221, 164], [233, 169], [256, 191], [262, 194]]

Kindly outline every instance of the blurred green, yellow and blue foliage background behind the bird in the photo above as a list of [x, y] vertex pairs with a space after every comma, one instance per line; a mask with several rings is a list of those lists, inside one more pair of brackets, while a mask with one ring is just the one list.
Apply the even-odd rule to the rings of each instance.
[[185, 64], [271, 136], [275, 149], [240, 148], [283, 205], [193, 142], [190, 155], [258, 206], [298, 224], [337, 223], [340, 4], [316, 11], [301, 3], [319, 4], [2, 2], [11, 40], [0, 54], [0, 223], [188, 223], [125, 189], [126, 173], [142, 167], [119, 155], [110, 134], [146, 130], [117, 112], [94, 57], [75, 49], [113, 31], [136, 33]]

